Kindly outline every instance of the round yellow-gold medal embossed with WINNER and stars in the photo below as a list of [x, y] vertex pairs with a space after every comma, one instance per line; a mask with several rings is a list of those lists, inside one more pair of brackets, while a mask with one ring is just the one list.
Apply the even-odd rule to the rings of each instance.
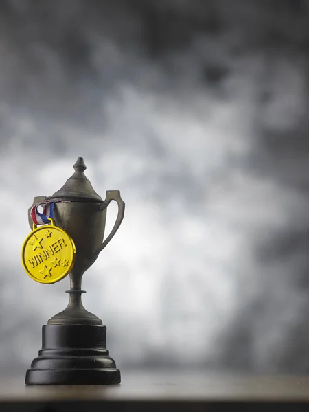
[[[71, 236], [54, 225], [36, 227], [23, 242], [21, 262], [36, 282], [54, 284], [73, 268], [76, 249]], [[34, 225], [35, 228], [35, 225]]]

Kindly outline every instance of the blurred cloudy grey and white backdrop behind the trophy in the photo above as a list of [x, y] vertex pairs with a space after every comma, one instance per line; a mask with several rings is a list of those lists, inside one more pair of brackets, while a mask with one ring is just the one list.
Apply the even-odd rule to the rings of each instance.
[[308, 50], [306, 0], [0, 2], [1, 373], [67, 305], [20, 251], [78, 156], [126, 201], [83, 284], [120, 369], [309, 371]]

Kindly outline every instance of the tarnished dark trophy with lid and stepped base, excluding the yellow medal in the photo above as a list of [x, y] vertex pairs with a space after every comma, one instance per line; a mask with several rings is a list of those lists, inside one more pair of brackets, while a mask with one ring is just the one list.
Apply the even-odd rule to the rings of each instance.
[[[98, 342], [95, 339], [87, 339], [77, 354], [72, 355], [72, 350], [78, 341], [82, 341], [85, 333], [92, 336], [91, 331], [105, 328], [101, 319], [88, 312], [82, 305], [82, 276], [119, 229], [124, 218], [124, 201], [119, 190], [108, 190], [106, 199], [102, 201], [84, 175], [86, 166], [82, 157], [78, 158], [73, 168], [75, 172], [67, 179], [65, 185], [53, 196], [46, 198], [47, 201], [56, 202], [56, 225], [69, 233], [76, 246], [76, 261], [69, 274], [71, 289], [67, 290], [69, 304], [65, 310], [49, 319], [48, 324], [43, 327], [43, 350], [32, 362], [32, 369], [27, 371], [27, 385], [100, 385], [120, 382], [120, 373], [115, 367], [115, 361], [106, 354], [97, 353]], [[44, 196], [34, 198], [34, 204], [43, 199]], [[113, 200], [118, 205], [117, 219], [111, 233], [104, 240], [106, 211]], [[75, 343], [71, 343], [70, 333], [75, 336]], [[53, 346], [53, 334], [58, 336], [62, 346]], [[47, 341], [49, 344], [46, 345]]]

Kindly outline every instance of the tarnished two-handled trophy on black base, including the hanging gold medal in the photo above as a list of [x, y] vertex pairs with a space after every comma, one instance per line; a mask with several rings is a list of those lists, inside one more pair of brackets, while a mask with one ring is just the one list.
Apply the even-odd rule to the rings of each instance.
[[[59, 282], [67, 274], [71, 289], [65, 310], [43, 326], [43, 347], [27, 370], [27, 385], [105, 385], [120, 382], [120, 371], [106, 349], [106, 326], [82, 306], [82, 275], [98, 258], [124, 218], [124, 202], [118, 190], [95, 193], [84, 175], [79, 157], [75, 172], [50, 197], [34, 198], [29, 209], [33, 231], [21, 252], [26, 273], [43, 284]], [[106, 210], [111, 201], [118, 215], [104, 240]], [[44, 207], [43, 212], [38, 211]]]

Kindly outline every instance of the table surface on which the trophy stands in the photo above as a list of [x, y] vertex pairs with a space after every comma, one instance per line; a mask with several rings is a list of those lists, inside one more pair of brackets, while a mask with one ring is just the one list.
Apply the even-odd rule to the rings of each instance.
[[[250, 376], [189, 371], [122, 372], [113, 386], [26, 387], [1, 377], [0, 411], [255, 411], [284, 403], [309, 410], [309, 376]], [[253, 409], [252, 409], [253, 407]], [[209, 409], [210, 408], [210, 409]], [[249, 409], [247, 409], [249, 408]], [[285, 409], [284, 409], [285, 410]]]

